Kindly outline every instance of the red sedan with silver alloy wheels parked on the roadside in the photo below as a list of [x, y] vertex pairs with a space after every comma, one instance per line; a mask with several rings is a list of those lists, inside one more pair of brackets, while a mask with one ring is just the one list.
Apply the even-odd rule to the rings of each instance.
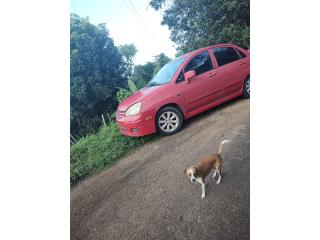
[[218, 44], [167, 63], [119, 104], [116, 119], [127, 136], [172, 135], [186, 119], [241, 95], [250, 97], [250, 52]]

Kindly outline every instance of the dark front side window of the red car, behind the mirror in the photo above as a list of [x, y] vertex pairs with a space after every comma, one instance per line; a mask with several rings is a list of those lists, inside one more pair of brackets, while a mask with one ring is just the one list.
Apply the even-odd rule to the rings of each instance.
[[196, 75], [199, 75], [212, 69], [213, 65], [209, 52], [205, 51], [192, 58], [192, 60], [185, 67], [184, 72], [186, 73], [188, 71], [195, 70]]

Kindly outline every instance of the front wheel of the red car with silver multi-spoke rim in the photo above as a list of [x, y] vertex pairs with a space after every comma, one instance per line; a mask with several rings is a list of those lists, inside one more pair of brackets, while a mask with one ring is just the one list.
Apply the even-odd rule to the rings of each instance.
[[[165, 118], [166, 116], [167, 118]], [[168, 118], [172, 118], [172, 120], [167, 120]], [[166, 122], [162, 123], [164, 119]], [[167, 125], [169, 125], [169, 129], [167, 131], [165, 130], [167, 128], [167, 125], [165, 125], [166, 123]], [[180, 110], [175, 107], [167, 106], [167, 107], [161, 108], [156, 115], [156, 128], [158, 133], [161, 135], [170, 136], [170, 135], [176, 134], [181, 130], [182, 125], [183, 125], [183, 116]], [[170, 126], [173, 126], [173, 127], [170, 129]]]

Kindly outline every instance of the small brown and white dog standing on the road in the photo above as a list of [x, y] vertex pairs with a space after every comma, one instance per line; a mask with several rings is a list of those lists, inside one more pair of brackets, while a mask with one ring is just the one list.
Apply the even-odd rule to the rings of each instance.
[[206, 184], [205, 179], [210, 173], [212, 169], [214, 169], [213, 178], [216, 177], [217, 173], [219, 175], [218, 180], [216, 181], [216, 184], [219, 184], [221, 181], [221, 170], [222, 170], [222, 152], [223, 152], [223, 145], [227, 142], [230, 142], [229, 140], [224, 140], [220, 143], [219, 152], [218, 154], [211, 154], [195, 165], [188, 169], [184, 170], [184, 173], [190, 178], [191, 182], [197, 181], [202, 186], [202, 198], [205, 198], [206, 192]]

